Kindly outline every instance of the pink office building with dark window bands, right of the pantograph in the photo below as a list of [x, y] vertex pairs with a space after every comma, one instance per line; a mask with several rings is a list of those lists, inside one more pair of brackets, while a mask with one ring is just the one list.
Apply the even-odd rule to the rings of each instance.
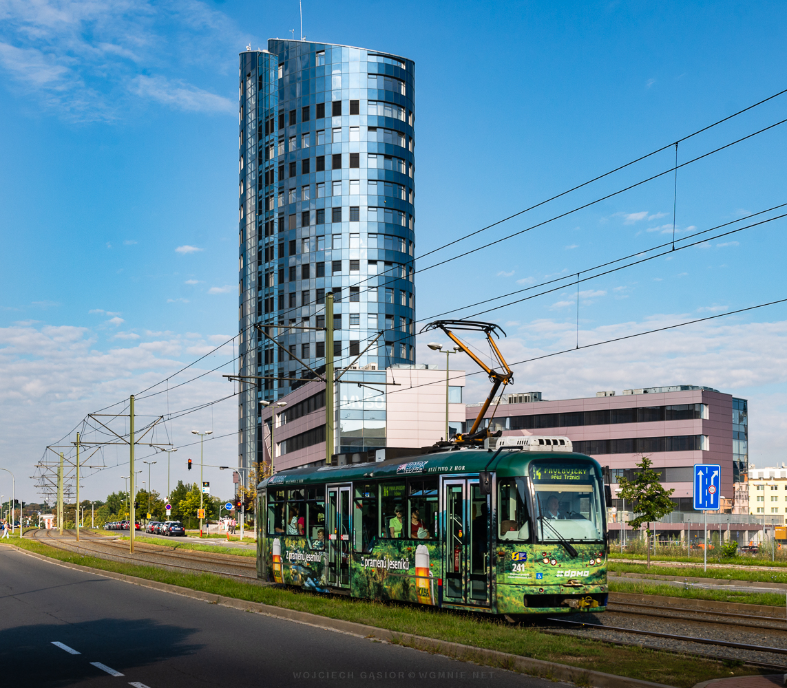
[[[676, 511], [692, 512], [693, 465], [719, 464], [723, 510], [748, 514], [745, 399], [707, 387], [676, 385], [555, 401], [529, 392], [508, 395], [505, 401], [491, 421], [493, 429], [568, 436], [575, 451], [609, 467], [613, 490], [617, 476], [633, 475], [644, 454], [661, 471], [663, 486], [674, 488]], [[467, 406], [468, 425], [477, 413], [477, 407]], [[622, 510], [622, 504], [615, 506]]]

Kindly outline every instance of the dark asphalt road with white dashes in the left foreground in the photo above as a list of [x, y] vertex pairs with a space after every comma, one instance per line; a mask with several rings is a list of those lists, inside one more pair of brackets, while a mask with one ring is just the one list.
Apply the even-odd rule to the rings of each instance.
[[0, 684], [560, 685], [73, 571], [5, 547], [0, 547]]

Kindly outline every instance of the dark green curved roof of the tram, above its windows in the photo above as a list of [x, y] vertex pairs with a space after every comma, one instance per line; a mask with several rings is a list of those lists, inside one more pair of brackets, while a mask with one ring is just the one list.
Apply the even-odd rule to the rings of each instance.
[[[500, 477], [516, 477], [526, 475], [527, 466], [537, 459], [548, 459], [553, 462], [591, 463], [596, 468], [597, 476], [601, 476], [599, 462], [586, 454], [578, 454], [575, 451], [535, 450], [535, 447], [508, 446], [504, 448], [508, 451], [502, 451], [497, 456], [491, 450], [463, 449], [461, 451], [449, 450], [435, 451], [430, 454], [413, 454], [409, 457], [390, 458], [375, 463], [290, 469], [266, 478], [257, 485], [257, 489], [405, 476], [426, 477], [449, 473], [480, 473], [484, 470], [493, 471]], [[530, 451], [527, 451], [528, 449]]]

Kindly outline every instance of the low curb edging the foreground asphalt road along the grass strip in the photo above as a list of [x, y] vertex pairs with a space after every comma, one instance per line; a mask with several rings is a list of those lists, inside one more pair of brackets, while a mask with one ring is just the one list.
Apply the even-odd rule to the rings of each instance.
[[475, 664], [483, 664], [486, 666], [506, 669], [508, 671], [519, 671], [523, 674], [534, 675], [545, 679], [551, 679], [553, 681], [574, 682], [582, 686], [594, 686], [594, 688], [673, 688], [673, 686], [666, 686], [663, 683], [641, 681], [639, 679], [628, 679], [625, 676], [605, 674], [603, 671], [592, 671], [590, 669], [571, 667], [567, 664], [557, 664], [556, 662], [537, 660], [533, 659], [532, 657], [521, 657], [520, 655], [499, 652], [494, 649], [463, 645], [458, 642], [436, 640], [435, 638], [425, 638], [421, 635], [397, 633], [397, 631], [389, 631], [386, 628], [368, 626], [366, 624], [357, 624], [354, 621], [331, 619], [327, 616], [319, 616], [309, 612], [299, 612], [295, 609], [264, 605], [261, 602], [250, 602], [248, 600], [241, 600], [238, 598], [227, 598], [224, 597], [224, 595], [192, 590], [189, 587], [172, 585], [171, 583], [159, 583], [156, 580], [148, 580], [145, 578], [138, 578], [136, 576], [127, 576], [124, 573], [103, 571], [100, 568], [92, 568], [91, 566], [83, 566], [80, 564], [58, 561], [57, 559], [46, 557], [44, 554], [38, 554], [37, 552], [24, 550], [17, 545], [9, 544], [8, 546], [12, 547], [14, 550], [17, 550], [17, 552], [28, 554], [28, 556], [35, 557], [41, 561], [49, 562], [50, 564], [62, 566], [64, 568], [71, 568], [75, 571], [81, 571], [83, 573], [92, 573], [96, 576], [104, 576], [105, 578], [120, 580], [123, 583], [131, 583], [133, 585], [149, 587], [153, 590], [179, 594], [183, 595], [183, 597], [198, 599], [202, 602], [209, 602], [210, 604], [214, 605], [220, 604], [244, 612], [264, 613], [268, 616], [275, 616], [280, 619], [297, 621], [301, 624], [309, 624], [332, 631], [341, 631], [342, 633], [357, 635], [360, 638], [376, 638], [396, 645], [412, 647], [413, 649], [419, 649], [429, 653], [441, 654], [445, 657], [451, 657], [456, 660], [469, 661]]

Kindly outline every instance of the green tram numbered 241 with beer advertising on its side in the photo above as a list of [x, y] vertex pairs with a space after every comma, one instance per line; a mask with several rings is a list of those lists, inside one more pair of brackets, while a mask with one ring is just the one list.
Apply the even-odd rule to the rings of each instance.
[[511, 618], [603, 611], [600, 465], [565, 437], [500, 441], [264, 480], [257, 576]]

